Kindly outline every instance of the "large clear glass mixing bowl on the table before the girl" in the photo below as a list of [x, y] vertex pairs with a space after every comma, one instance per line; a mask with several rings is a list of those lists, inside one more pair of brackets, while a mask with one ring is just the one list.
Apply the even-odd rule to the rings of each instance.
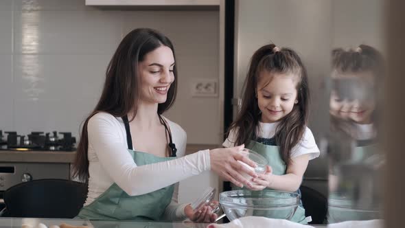
[[229, 220], [245, 216], [290, 219], [299, 205], [299, 194], [274, 190], [233, 190], [220, 194], [220, 205]]

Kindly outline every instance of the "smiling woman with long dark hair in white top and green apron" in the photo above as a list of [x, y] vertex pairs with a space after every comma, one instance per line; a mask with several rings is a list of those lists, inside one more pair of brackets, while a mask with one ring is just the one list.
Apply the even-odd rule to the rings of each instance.
[[[193, 212], [177, 203], [178, 181], [213, 170], [235, 185], [257, 176], [242, 147], [185, 153], [185, 131], [161, 114], [176, 97], [177, 72], [170, 40], [147, 28], [119, 44], [106, 71], [102, 96], [84, 122], [74, 176], [88, 181], [78, 217], [91, 220], [211, 222], [210, 207]], [[176, 158], [181, 157], [181, 158]]]

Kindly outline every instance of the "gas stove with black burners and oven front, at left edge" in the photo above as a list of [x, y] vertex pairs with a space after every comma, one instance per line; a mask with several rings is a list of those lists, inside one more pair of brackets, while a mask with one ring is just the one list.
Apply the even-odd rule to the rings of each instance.
[[[73, 155], [76, 138], [71, 133], [32, 132], [27, 136], [16, 132], [5, 134], [0, 130], [0, 208], [3, 192], [13, 185], [38, 179], [70, 179], [71, 161], [52, 161], [49, 157], [66, 156], [62, 152]], [[33, 156], [39, 156], [40, 153], [44, 153], [43, 157], [48, 159], [33, 161]], [[15, 157], [19, 159], [5, 159], [10, 155], [18, 155]]]

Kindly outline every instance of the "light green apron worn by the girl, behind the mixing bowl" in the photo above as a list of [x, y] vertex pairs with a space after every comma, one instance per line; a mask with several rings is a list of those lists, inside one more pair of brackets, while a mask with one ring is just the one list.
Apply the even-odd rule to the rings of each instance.
[[[270, 146], [270, 145], [261, 144], [257, 141], [251, 140], [250, 143], [246, 146], [246, 148], [251, 149], [251, 150], [259, 153], [259, 155], [262, 155], [263, 157], [265, 157], [268, 161], [268, 166], [270, 166], [273, 170], [273, 174], [276, 174], [276, 175], [286, 174], [287, 166], [286, 166], [286, 163], [283, 161], [283, 159], [281, 159], [281, 155], [279, 152], [279, 146]], [[235, 188], [234, 185], [233, 185], [233, 187]], [[271, 189], [269, 189], [269, 190], [271, 190]], [[284, 194], [284, 193], [280, 192], [280, 194]], [[286, 217], [288, 217], [282, 213], [285, 213], [285, 212], [282, 212], [282, 210], [280, 210], [279, 212], [255, 212], [255, 214], [253, 214], [253, 216], [264, 216], [266, 218], [286, 218]], [[305, 209], [301, 205], [299, 205], [290, 220], [295, 223], [307, 224], [308, 219], [305, 218]]]

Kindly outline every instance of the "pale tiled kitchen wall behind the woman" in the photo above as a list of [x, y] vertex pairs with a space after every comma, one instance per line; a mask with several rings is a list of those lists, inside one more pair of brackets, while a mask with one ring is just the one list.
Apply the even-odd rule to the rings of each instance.
[[[166, 115], [188, 143], [218, 144], [218, 98], [192, 98], [194, 78], [218, 80], [218, 11], [114, 11], [84, 0], [0, 1], [0, 130], [70, 131], [94, 108], [122, 37], [152, 27], [176, 49], [178, 99]], [[196, 121], [198, 120], [198, 121]]]

